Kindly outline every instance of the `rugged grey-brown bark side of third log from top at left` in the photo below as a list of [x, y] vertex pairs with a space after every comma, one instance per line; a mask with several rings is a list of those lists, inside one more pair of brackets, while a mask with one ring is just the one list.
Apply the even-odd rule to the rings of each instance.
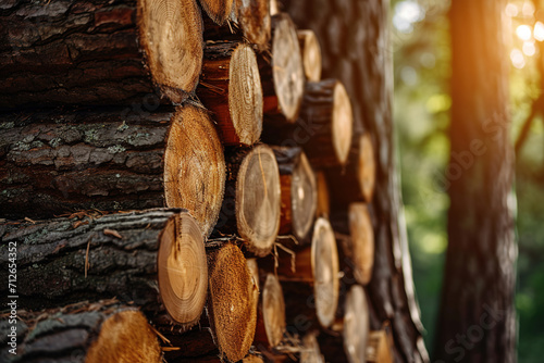
[[[171, 234], [175, 239], [181, 233], [175, 227], [177, 212], [156, 210], [37, 224], [3, 223], [0, 276], [8, 280], [7, 251], [16, 246], [18, 303], [27, 309], [118, 297], [141, 306], [153, 321], [171, 322], [158, 286], [158, 254], [163, 237]], [[198, 263], [193, 266], [198, 268]], [[206, 278], [206, 260], [200, 268]], [[2, 293], [8, 296], [8, 285], [2, 287]], [[201, 299], [200, 311], [190, 324], [198, 322], [203, 303]]]

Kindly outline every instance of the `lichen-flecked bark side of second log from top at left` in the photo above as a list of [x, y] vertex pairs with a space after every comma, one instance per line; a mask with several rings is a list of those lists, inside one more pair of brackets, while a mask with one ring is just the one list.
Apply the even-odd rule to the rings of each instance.
[[120, 109], [3, 114], [1, 216], [164, 206], [163, 155], [173, 113]]

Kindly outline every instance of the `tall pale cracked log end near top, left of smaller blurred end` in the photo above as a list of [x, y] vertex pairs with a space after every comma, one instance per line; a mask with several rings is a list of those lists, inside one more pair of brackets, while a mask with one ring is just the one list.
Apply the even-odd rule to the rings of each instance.
[[272, 75], [277, 103], [288, 122], [295, 122], [304, 96], [305, 75], [300, 46], [293, 21], [286, 14], [273, 16]]

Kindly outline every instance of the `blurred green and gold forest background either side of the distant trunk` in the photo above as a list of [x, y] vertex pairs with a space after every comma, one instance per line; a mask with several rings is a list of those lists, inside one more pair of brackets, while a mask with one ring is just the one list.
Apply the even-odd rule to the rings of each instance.
[[[413, 277], [428, 348], [440, 305], [449, 199], [441, 188], [449, 158], [450, 39], [448, 0], [392, 1], [395, 60], [394, 120]], [[519, 362], [544, 356], [544, 7], [511, 1], [510, 110], [516, 143], [516, 235], [519, 242], [516, 309]], [[508, 37], [510, 38], [510, 37]]]

